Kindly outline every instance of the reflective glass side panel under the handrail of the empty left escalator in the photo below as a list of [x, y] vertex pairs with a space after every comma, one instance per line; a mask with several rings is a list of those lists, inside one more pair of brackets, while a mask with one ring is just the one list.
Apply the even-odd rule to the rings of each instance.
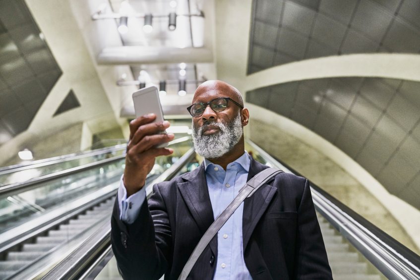
[[[170, 147], [174, 149], [174, 154], [156, 159], [148, 181], [171, 167], [190, 145], [189, 138], [173, 141]], [[26, 182], [0, 187], [0, 244], [2, 232], [62, 208], [67, 202], [105, 185], [118, 182], [123, 172], [124, 161], [124, 155], [116, 155], [87, 166], [65, 169]]]

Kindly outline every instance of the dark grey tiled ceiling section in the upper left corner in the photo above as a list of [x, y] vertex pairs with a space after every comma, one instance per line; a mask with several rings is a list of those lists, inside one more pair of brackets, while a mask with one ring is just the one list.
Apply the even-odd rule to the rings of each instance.
[[0, 145], [30, 125], [61, 69], [22, 0], [0, 1]]

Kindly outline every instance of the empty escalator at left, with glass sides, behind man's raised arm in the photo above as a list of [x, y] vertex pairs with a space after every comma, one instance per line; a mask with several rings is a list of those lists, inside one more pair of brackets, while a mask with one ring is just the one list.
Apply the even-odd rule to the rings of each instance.
[[[170, 143], [147, 182], [194, 168], [189, 137]], [[0, 280], [38, 279], [104, 224], [110, 224], [124, 167], [124, 146], [0, 170]], [[53, 171], [49, 173], [49, 171]], [[175, 170], [175, 171], [174, 171]], [[41, 174], [10, 182], [22, 174]]]

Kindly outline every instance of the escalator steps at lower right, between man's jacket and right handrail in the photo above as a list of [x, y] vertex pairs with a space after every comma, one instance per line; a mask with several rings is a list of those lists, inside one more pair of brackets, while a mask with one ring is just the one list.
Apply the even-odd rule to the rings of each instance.
[[377, 272], [372, 272], [367, 260], [352, 250], [353, 246], [319, 214], [319, 226], [324, 238], [328, 261], [335, 280], [382, 280]]

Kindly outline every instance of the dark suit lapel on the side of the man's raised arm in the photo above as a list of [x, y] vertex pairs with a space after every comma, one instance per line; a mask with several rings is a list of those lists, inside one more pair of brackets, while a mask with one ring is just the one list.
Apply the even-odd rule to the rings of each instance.
[[[194, 221], [197, 223], [202, 234], [214, 222], [213, 208], [211, 206], [207, 180], [205, 176], [204, 164], [182, 176], [186, 182], [179, 183], [178, 189], [182, 195], [188, 210]], [[210, 247], [214, 253], [217, 252], [217, 236], [210, 242]]]

